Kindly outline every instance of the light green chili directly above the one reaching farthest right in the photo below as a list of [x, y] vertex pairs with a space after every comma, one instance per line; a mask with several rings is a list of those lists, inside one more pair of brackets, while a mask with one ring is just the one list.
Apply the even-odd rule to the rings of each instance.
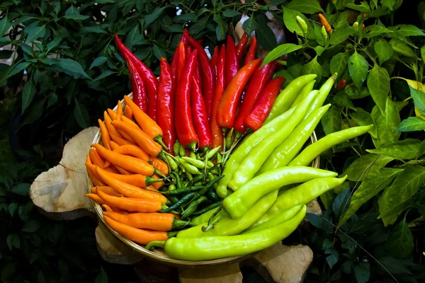
[[276, 147], [271, 155], [268, 156], [266, 162], [261, 166], [259, 174], [287, 166], [300, 151], [305, 141], [309, 139], [317, 124], [319, 124], [320, 119], [322, 119], [330, 106], [330, 104], [322, 106], [312, 112], [312, 115], [306, 120], [300, 122], [282, 144]]

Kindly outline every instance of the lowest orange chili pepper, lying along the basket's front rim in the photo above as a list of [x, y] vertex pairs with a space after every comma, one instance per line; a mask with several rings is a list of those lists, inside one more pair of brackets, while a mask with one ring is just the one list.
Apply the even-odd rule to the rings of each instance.
[[120, 222], [117, 222], [108, 216], [103, 216], [103, 219], [105, 219], [106, 223], [114, 231], [120, 233], [125, 238], [128, 238], [135, 243], [140, 243], [141, 245], [147, 245], [147, 243], [152, 241], [166, 241], [169, 238], [168, 234], [164, 231], [148, 231], [137, 229], [132, 226], [121, 224]]

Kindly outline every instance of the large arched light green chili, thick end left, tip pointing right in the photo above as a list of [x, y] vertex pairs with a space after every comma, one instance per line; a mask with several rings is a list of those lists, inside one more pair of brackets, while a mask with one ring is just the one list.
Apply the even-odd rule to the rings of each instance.
[[[241, 217], [260, 197], [284, 185], [303, 183], [314, 178], [335, 177], [337, 173], [307, 166], [283, 167], [256, 176], [223, 200], [233, 219]], [[293, 204], [295, 205], [295, 204]]]

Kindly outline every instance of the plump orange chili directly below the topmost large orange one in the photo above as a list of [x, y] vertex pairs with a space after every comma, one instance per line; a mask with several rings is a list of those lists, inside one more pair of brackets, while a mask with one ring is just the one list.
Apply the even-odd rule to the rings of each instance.
[[136, 143], [150, 156], [158, 156], [162, 151], [161, 146], [155, 142], [152, 137], [149, 137], [142, 129], [133, 127], [132, 125], [123, 121], [112, 121], [112, 125], [117, 129], [125, 131], [130, 134], [132, 139], [135, 139]]

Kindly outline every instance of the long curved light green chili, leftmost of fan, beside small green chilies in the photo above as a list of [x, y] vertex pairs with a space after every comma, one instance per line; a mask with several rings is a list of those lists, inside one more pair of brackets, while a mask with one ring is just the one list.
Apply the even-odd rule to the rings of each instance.
[[[220, 180], [217, 187], [217, 195], [224, 199], [227, 195], [227, 183], [232, 179], [232, 175], [239, 164], [244, 160], [244, 158], [254, 149], [256, 145], [263, 140], [264, 137], [267, 137], [269, 134], [273, 134], [273, 132], [278, 131], [281, 127], [283, 127], [293, 114], [295, 108], [291, 108], [287, 112], [284, 112], [282, 115], [276, 117], [276, 119], [269, 122], [267, 125], [261, 127], [258, 131], [247, 136], [239, 146], [234, 150], [233, 154], [229, 157], [226, 162], [225, 170], [223, 171], [223, 175], [225, 176]], [[218, 156], [221, 156], [220, 154]]]

